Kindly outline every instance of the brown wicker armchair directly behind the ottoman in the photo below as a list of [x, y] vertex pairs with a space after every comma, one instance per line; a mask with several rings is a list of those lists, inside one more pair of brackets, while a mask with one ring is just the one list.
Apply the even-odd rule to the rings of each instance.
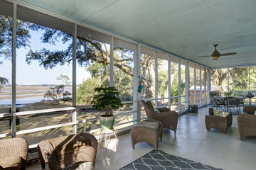
[[144, 107], [146, 111], [146, 116], [148, 119], [154, 119], [159, 120], [161, 123], [163, 123], [164, 128], [174, 130], [174, 135], [176, 135], [177, 125], [178, 125], [178, 113], [175, 111], [170, 111], [169, 108], [164, 108], [165, 111], [159, 110], [160, 113], [156, 113], [154, 111], [153, 106], [150, 106], [145, 101], [142, 101], [142, 106]]

